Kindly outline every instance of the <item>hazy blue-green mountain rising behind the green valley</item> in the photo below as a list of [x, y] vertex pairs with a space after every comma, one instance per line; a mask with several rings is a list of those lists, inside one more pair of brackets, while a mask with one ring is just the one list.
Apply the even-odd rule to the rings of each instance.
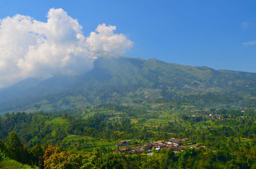
[[1, 112], [51, 111], [113, 102], [189, 102], [197, 107], [255, 107], [256, 73], [184, 66], [98, 51], [79, 76], [29, 78], [0, 91]]

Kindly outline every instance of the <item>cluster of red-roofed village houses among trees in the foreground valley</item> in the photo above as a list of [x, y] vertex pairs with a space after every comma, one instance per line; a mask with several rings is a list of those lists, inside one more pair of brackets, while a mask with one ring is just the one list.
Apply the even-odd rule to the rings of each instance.
[[[118, 147], [118, 149], [116, 149], [115, 151], [119, 151], [119, 152], [131, 152], [131, 153], [143, 153], [143, 152], [151, 152], [153, 149], [154, 151], [160, 151], [161, 149], [173, 149], [173, 152], [180, 152], [182, 151], [182, 149], [186, 149], [186, 148], [195, 148], [195, 149], [200, 149], [200, 147], [204, 147], [200, 146], [200, 147], [196, 147], [196, 146], [189, 146], [189, 145], [184, 145], [184, 143], [188, 143], [188, 138], [171, 138], [168, 141], [164, 141], [164, 140], [159, 140], [156, 142], [152, 142], [152, 143], [147, 143], [145, 145], [137, 145], [134, 147], [129, 147], [130, 145], [130, 140], [123, 140], [122, 142], [118, 143], [116, 145], [116, 147]], [[189, 143], [188, 143], [189, 144]]]

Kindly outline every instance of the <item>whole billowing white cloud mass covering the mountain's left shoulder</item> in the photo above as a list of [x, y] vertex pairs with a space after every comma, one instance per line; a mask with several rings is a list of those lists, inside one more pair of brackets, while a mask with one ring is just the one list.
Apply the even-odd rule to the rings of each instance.
[[29, 77], [77, 75], [92, 70], [94, 50], [124, 52], [132, 42], [115, 34], [115, 26], [99, 25], [84, 37], [76, 19], [52, 8], [47, 22], [15, 15], [0, 19], [0, 88]]

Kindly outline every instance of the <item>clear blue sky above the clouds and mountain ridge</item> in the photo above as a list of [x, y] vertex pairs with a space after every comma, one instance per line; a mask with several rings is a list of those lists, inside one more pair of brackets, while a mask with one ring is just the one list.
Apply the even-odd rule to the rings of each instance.
[[134, 43], [124, 55], [256, 72], [256, 1], [0, 0], [0, 18], [46, 22], [50, 8], [76, 18], [86, 36], [99, 24], [116, 26]]

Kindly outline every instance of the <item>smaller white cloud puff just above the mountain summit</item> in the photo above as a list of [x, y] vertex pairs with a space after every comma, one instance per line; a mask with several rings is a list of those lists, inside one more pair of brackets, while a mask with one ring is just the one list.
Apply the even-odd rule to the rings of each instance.
[[105, 50], [110, 52], [123, 53], [132, 47], [132, 41], [127, 40], [124, 34], [115, 34], [115, 26], [99, 25], [97, 33], [92, 32], [87, 38], [87, 43], [92, 50]]

